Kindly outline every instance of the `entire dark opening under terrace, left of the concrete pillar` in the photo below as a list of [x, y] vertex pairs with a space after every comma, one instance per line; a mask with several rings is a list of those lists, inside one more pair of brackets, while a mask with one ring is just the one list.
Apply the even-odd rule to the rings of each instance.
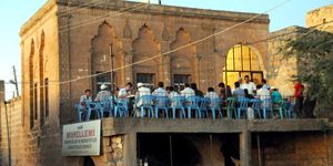
[[[138, 134], [138, 159], [148, 162], [150, 166], [170, 166], [171, 160], [173, 166], [201, 166], [210, 163], [234, 166], [234, 162], [240, 158], [239, 135], [214, 134], [216, 142], [213, 143], [204, 141], [209, 135]], [[210, 149], [210, 144], [218, 146], [218, 149]]]

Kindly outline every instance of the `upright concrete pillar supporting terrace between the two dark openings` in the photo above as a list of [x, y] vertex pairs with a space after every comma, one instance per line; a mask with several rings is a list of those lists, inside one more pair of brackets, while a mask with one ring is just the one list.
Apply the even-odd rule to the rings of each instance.
[[251, 166], [251, 132], [248, 129], [242, 131], [240, 134], [240, 159], [241, 166]]

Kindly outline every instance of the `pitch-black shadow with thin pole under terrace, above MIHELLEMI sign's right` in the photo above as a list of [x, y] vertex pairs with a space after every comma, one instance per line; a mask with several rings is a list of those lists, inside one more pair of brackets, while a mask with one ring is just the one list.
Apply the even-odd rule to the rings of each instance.
[[[149, 166], [170, 166], [169, 134], [138, 134], [138, 156]], [[172, 135], [172, 165], [195, 166], [201, 159], [194, 145], [181, 135]]]

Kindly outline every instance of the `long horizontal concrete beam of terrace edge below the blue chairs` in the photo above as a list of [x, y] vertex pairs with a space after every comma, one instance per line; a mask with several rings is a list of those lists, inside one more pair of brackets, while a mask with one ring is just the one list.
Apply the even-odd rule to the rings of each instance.
[[325, 118], [309, 120], [165, 120], [165, 118], [104, 118], [103, 136], [127, 133], [241, 133], [250, 132], [311, 132], [327, 128]]

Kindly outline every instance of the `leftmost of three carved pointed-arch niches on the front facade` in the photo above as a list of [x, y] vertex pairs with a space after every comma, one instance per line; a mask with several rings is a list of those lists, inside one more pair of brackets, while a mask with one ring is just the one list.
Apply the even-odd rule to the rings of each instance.
[[[111, 56], [110, 56], [110, 45], [112, 45], [113, 58], [113, 69], [114, 71], [114, 83], [115, 86], [123, 84], [123, 69], [124, 56], [122, 53], [122, 43], [114, 32], [114, 28], [110, 25], [107, 21], [99, 25], [98, 34], [91, 40], [91, 73], [104, 73], [111, 71]], [[104, 80], [105, 84], [111, 85], [111, 72], [97, 76], [93, 79], [93, 91], [99, 87], [102, 82], [99, 80]]]

